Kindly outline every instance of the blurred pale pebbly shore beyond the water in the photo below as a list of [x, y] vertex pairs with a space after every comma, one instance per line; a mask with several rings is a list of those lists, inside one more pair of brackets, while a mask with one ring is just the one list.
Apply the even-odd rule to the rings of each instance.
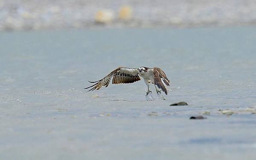
[[256, 25], [255, 0], [0, 0], [0, 31]]

